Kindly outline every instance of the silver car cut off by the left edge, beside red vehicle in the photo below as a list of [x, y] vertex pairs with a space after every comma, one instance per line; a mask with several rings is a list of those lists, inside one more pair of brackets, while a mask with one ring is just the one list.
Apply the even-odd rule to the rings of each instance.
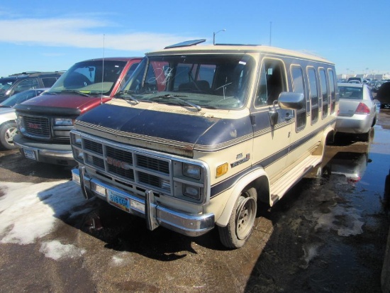
[[18, 130], [15, 122], [15, 109], [13, 109], [13, 106], [20, 104], [23, 101], [27, 101], [28, 99], [32, 99], [48, 89], [49, 88], [28, 89], [25, 92], [10, 96], [0, 104], [0, 148], [6, 150], [17, 148], [16, 145], [13, 144], [13, 136], [15, 136], [16, 131]]

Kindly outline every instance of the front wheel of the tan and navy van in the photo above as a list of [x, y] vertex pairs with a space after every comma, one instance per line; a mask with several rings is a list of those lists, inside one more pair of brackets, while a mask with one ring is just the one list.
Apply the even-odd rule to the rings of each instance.
[[256, 219], [256, 200], [255, 188], [243, 191], [235, 201], [228, 225], [218, 226], [221, 243], [227, 248], [240, 248], [250, 237]]

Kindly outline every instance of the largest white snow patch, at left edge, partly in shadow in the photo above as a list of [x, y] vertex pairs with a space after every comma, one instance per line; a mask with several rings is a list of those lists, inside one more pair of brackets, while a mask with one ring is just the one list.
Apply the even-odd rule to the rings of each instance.
[[0, 182], [0, 243], [28, 244], [48, 235], [57, 217], [85, 199], [77, 184], [57, 182]]

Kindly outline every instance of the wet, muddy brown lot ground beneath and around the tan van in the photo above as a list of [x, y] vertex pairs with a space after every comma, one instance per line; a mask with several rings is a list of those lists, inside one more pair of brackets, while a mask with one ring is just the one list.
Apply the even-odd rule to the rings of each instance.
[[[147, 231], [143, 219], [84, 201], [70, 170], [1, 152], [0, 206], [13, 195], [28, 208], [0, 228], [0, 292], [381, 292], [389, 145], [384, 110], [370, 143], [329, 145], [321, 179], [308, 176], [272, 209], [262, 206], [239, 250], [223, 248], [217, 231], [199, 238]], [[21, 193], [35, 189], [39, 200], [29, 206]], [[71, 199], [65, 211], [60, 202]], [[50, 213], [31, 218], [39, 205]], [[42, 228], [50, 217], [45, 233], [16, 237], [18, 225]]]

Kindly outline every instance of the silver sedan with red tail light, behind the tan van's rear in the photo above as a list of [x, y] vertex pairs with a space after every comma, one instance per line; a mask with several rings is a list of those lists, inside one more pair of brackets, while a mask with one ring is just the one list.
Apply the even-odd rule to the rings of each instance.
[[336, 133], [353, 133], [361, 140], [369, 140], [369, 132], [377, 123], [377, 102], [366, 84], [338, 84], [340, 108]]

